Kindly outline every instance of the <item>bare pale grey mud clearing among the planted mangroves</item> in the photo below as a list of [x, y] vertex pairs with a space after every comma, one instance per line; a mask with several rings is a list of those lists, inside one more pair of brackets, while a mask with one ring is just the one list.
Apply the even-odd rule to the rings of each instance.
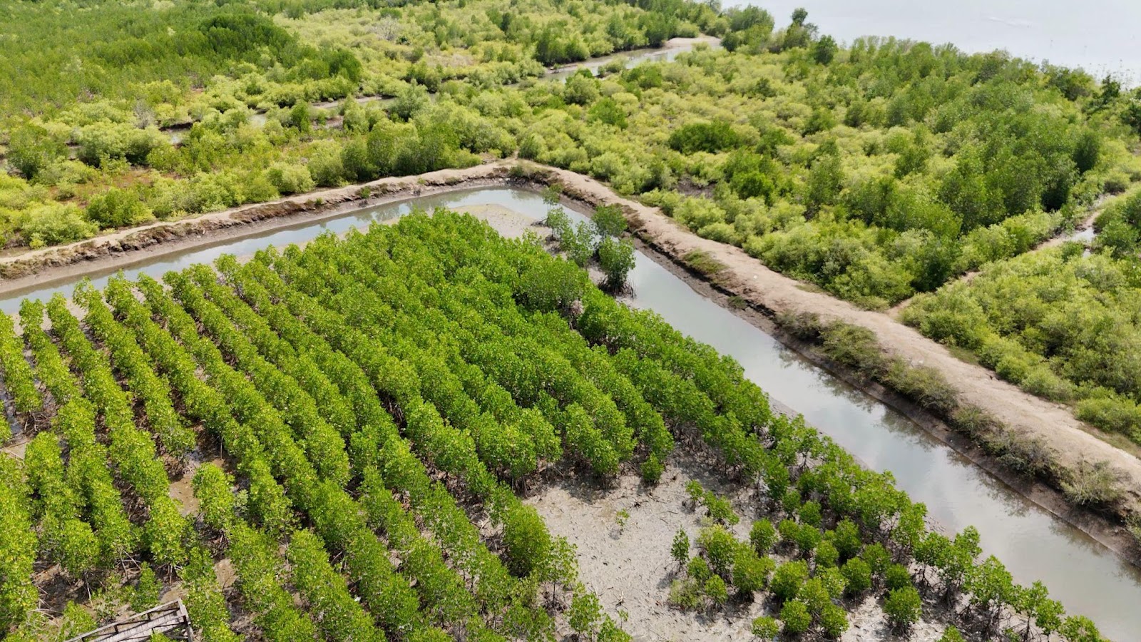
[[[552, 535], [566, 537], [577, 547], [582, 581], [598, 594], [606, 611], [621, 621], [638, 642], [685, 642], [752, 640], [753, 618], [769, 613], [766, 601], [730, 603], [721, 610], [691, 612], [667, 604], [670, 584], [677, 578], [677, 563], [670, 556], [670, 545], [679, 528], [693, 543], [703, 523], [704, 509], [694, 511], [688, 504], [686, 483], [697, 479], [702, 484], [733, 499], [742, 515], [731, 528], [738, 539], [748, 538], [753, 519], [760, 516], [748, 489], [726, 487], [709, 475], [711, 463], [688, 456], [671, 463], [661, 483], [645, 487], [634, 475], [620, 479], [615, 488], [599, 489], [591, 481], [570, 478], [548, 484], [528, 498], [547, 522]], [[618, 525], [618, 512], [630, 517]], [[877, 601], [867, 597], [850, 609], [844, 642], [897, 640], [887, 625]], [[932, 642], [942, 635], [944, 626], [923, 621], [912, 631], [909, 640]]]

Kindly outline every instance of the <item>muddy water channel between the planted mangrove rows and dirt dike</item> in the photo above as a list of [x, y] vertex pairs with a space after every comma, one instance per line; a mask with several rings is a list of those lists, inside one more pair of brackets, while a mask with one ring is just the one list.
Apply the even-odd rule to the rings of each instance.
[[[507, 187], [461, 190], [362, 209], [319, 223], [232, 239], [212, 247], [123, 265], [128, 276], [160, 276], [221, 254], [250, 255], [269, 244], [305, 242], [317, 234], [389, 220], [413, 208], [496, 204], [540, 219], [539, 194]], [[96, 286], [112, 271], [91, 274]], [[839, 382], [800, 359], [776, 339], [704, 298], [650, 258], [639, 254], [631, 273], [631, 304], [653, 310], [679, 330], [734, 356], [745, 374], [772, 399], [804, 415], [856, 457], [879, 471], [891, 471], [901, 489], [926, 504], [948, 530], [973, 524], [985, 554], [997, 555], [1015, 580], [1042, 579], [1071, 613], [1093, 618], [1117, 642], [1141, 633], [1141, 573], [1089, 536], [1053, 517], [1009, 487], [973, 466], [903, 415]], [[17, 298], [70, 294], [70, 282], [41, 283], [0, 299], [14, 311]]]

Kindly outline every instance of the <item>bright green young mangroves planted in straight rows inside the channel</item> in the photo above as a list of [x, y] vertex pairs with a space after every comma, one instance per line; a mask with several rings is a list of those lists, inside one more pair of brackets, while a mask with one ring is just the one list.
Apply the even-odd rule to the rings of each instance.
[[[544, 281], [545, 290], [533, 288]], [[50, 336], [34, 322], [24, 329], [35, 377], [60, 406], [29, 446], [29, 473], [7, 458], [0, 466], [0, 538], [15, 552], [0, 575], [6, 615], [43, 533], [41, 548], [79, 575], [135, 553], [178, 571], [204, 636], [232, 640], [212, 560], [197, 541], [204, 535], [228, 545], [241, 605], [267, 639], [380, 639], [383, 629], [432, 640], [460, 626], [482, 639], [485, 625], [503, 637], [544, 639], [555, 625], [540, 591], [574, 591], [574, 552], [510, 484], [564, 456], [609, 475], [642, 454], [662, 462], [673, 447], [669, 430], [691, 427], [687, 439], [703, 440], [733, 475], [763, 481], [788, 519], [779, 528], [754, 522], [747, 544], [725, 525], [703, 529], [701, 555], [671, 587], [673, 603], [720, 605], [727, 580], [744, 597], [771, 573], [790, 635], [815, 624], [836, 636], [847, 618], [835, 601], [883, 576], [887, 607], [904, 626], [922, 602], [885, 546], [861, 551], [875, 533], [898, 560], [930, 563], [926, 581], [933, 571], [944, 591], [961, 584], [984, 619], [1015, 608], [1045, 628], [1084, 627], [1044, 588], [1017, 587], [996, 560], [977, 563], [977, 533], [929, 533], [925, 509], [890, 475], [859, 467], [802, 420], [774, 416], [739, 366], [622, 306], [570, 262], [502, 240], [470, 217], [412, 215], [305, 250], [222, 259], [217, 272], [171, 273], [164, 283], [113, 279], [104, 292], [81, 288], [75, 304], [87, 312], [82, 322], [58, 297], [47, 306]], [[25, 321], [42, 316], [42, 305], [22, 310]], [[887, 363], [865, 353], [856, 332], [827, 340], [853, 361]], [[200, 467], [197, 516], [209, 528], [197, 531], [170, 498], [160, 458], [173, 434], [163, 431], [186, 425], [211, 433], [237, 478]], [[82, 492], [51, 490], [71, 488], [72, 466]], [[116, 525], [107, 508], [122, 501], [97, 501], [92, 490], [114, 490], [114, 481], [146, 508], [145, 548], [120, 549], [123, 536], [105, 537]], [[712, 521], [738, 520], [728, 499], [697, 483], [687, 490]], [[488, 549], [467, 500], [502, 525], [501, 551]], [[774, 569], [767, 553], [778, 531], [804, 559]], [[31, 605], [11, 600], [13, 623], [34, 607], [32, 588]], [[575, 600], [575, 628], [624, 637], [591, 596]]]

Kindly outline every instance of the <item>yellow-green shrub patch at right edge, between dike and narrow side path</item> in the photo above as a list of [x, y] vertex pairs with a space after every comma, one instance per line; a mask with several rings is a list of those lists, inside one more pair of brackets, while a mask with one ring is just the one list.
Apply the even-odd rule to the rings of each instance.
[[[1051, 248], [992, 264], [969, 283], [916, 299], [905, 320], [974, 352], [1028, 392], [1077, 401], [1079, 418], [1139, 439], [1141, 382], [1131, 366], [1138, 329], [1127, 313], [1135, 297], [1132, 259], [1110, 256], [1119, 244], [1135, 243], [1134, 228], [1123, 220], [1135, 200], [1119, 201], [1099, 219], [1107, 251], [1082, 256]], [[1094, 327], [1106, 331], [1090, 331]]]

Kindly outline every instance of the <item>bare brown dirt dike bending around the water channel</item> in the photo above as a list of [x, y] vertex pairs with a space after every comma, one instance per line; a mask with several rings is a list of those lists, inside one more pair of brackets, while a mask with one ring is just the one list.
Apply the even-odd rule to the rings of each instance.
[[[738, 295], [771, 314], [807, 312], [822, 319], [840, 319], [872, 330], [880, 343], [914, 366], [938, 369], [965, 403], [990, 412], [1011, 430], [1043, 440], [1055, 462], [1067, 470], [1083, 463], [1108, 462], [1122, 475], [1126, 493], [1124, 507], [1141, 513], [1141, 460], [1095, 436], [1095, 430], [1078, 422], [1065, 406], [1045, 401], [998, 380], [981, 366], [964, 362], [942, 345], [928, 339], [882, 312], [861, 310], [830, 295], [812, 291], [804, 283], [774, 272], [741, 248], [702, 239], [683, 228], [659, 209], [617, 195], [608, 186], [572, 171], [503, 160], [466, 169], [447, 169], [421, 176], [390, 177], [363, 185], [349, 185], [289, 196], [268, 203], [243, 206], [196, 218], [161, 222], [115, 232], [96, 239], [0, 257], [0, 295], [29, 282], [59, 279], [113, 266], [119, 262], [183, 251], [252, 232], [319, 220], [351, 209], [385, 201], [428, 195], [462, 186], [493, 184], [509, 178], [516, 164], [547, 172], [569, 196], [590, 204], [621, 204], [629, 211], [632, 230], [654, 249], [680, 259], [699, 250], [725, 265], [717, 287]], [[523, 172], [527, 174], [527, 172]], [[539, 176], [536, 176], [539, 178]], [[367, 187], [371, 195], [362, 195]], [[15, 274], [19, 278], [8, 278]]]

